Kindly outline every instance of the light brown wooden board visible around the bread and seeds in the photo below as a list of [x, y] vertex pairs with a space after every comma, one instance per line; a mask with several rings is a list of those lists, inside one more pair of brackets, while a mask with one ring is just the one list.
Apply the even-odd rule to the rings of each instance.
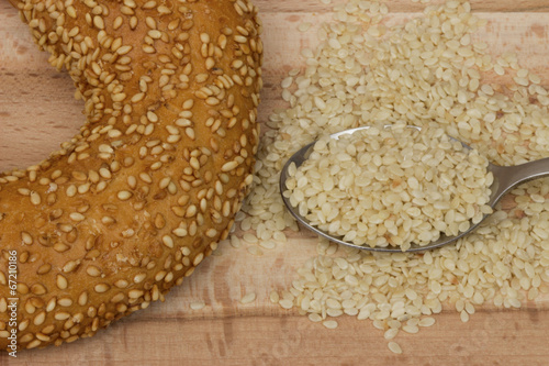
[[[81, 102], [70, 79], [53, 70], [30, 42], [16, 12], [0, 0], [0, 170], [38, 162], [82, 123]], [[299, 47], [314, 35], [296, 31], [301, 21], [329, 19], [317, 0], [256, 0], [265, 24], [265, 85], [260, 120], [283, 106], [278, 87], [300, 67]], [[479, 38], [493, 49], [517, 51], [523, 65], [549, 81], [549, 1], [472, 1], [489, 20]], [[413, 16], [422, 5], [389, 1], [391, 22]], [[547, 82], [546, 82], [547, 85]], [[0, 365], [547, 365], [549, 297], [519, 311], [479, 310], [468, 323], [445, 311], [415, 335], [399, 335], [404, 354], [386, 347], [369, 321], [338, 319], [336, 330], [311, 323], [268, 300], [283, 289], [294, 269], [315, 255], [314, 241], [294, 234], [264, 256], [246, 247], [222, 246], [165, 303], [116, 322], [90, 340], [61, 347], [0, 355]], [[240, 304], [246, 292], [257, 299]], [[190, 303], [203, 300], [200, 311]]]

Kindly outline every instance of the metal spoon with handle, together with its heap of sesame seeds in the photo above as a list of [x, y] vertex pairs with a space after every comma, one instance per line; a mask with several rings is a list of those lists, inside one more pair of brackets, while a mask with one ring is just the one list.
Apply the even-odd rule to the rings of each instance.
[[335, 243], [418, 252], [471, 233], [513, 187], [549, 160], [501, 167], [439, 127], [373, 125], [320, 138], [280, 175], [290, 213]]

